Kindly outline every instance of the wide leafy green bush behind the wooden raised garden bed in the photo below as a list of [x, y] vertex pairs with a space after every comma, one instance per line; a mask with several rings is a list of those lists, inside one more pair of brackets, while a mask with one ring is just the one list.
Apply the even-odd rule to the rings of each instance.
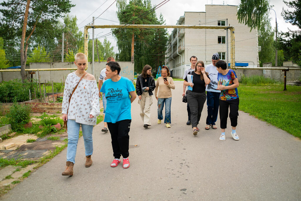
[[27, 80], [22, 82], [20, 79], [14, 79], [10, 81], [4, 81], [0, 83], [0, 102], [1, 103], [13, 103], [13, 102], [24, 102], [29, 100], [29, 89], [31, 98], [40, 97], [38, 85], [36, 81], [29, 82]]

